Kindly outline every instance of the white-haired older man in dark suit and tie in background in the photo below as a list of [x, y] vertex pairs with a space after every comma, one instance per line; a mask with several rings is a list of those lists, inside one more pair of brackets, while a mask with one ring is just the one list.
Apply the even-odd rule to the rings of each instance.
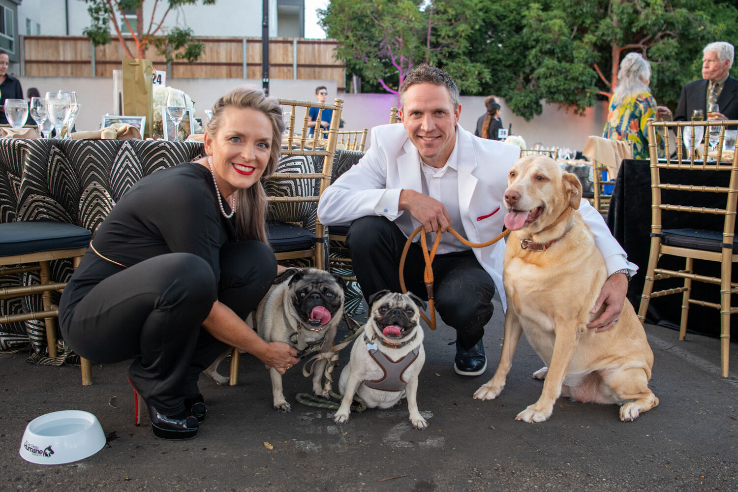
[[[725, 41], [705, 46], [702, 80], [694, 80], [682, 87], [674, 115], [676, 121], [688, 121], [695, 109], [701, 109], [707, 119], [738, 119], [738, 80], [728, 75], [733, 56], [733, 45]], [[708, 103], [717, 103], [720, 111], [708, 114]]]

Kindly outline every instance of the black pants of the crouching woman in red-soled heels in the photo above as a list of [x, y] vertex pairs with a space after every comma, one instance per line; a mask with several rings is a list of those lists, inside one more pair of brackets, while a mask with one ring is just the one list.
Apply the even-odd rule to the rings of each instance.
[[80, 356], [111, 363], [138, 356], [128, 370], [143, 398], [173, 415], [197, 395], [202, 370], [225, 349], [202, 322], [215, 299], [241, 319], [269, 290], [277, 261], [259, 241], [221, 249], [221, 279], [194, 254], [162, 254], [111, 275], [74, 308], [63, 336]]

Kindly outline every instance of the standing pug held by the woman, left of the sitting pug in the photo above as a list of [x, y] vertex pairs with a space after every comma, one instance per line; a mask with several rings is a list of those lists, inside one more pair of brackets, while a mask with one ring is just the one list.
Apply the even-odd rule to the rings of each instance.
[[[285, 342], [297, 348], [297, 358], [326, 352], [333, 344], [343, 315], [345, 283], [338, 274], [319, 268], [287, 268], [259, 302], [256, 330], [265, 342]], [[321, 384], [325, 364], [317, 361], [313, 394], [327, 397], [331, 381]], [[272, 397], [275, 410], [292, 412], [284, 398], [282, 375], [272, 368]]]

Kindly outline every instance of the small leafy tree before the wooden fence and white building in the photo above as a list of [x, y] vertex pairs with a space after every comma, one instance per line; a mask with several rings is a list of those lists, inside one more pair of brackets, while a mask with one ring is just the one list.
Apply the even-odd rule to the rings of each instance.
[[[118, 41], [125, 50], [128, 58], [145, 58], [146, 50], [155, 46], [167, 61], [187, 60], [190, 63], [196, 61], [202, 55], [204, 43], [192, 38], [193, 32], [187, 27], [173, 27], [166, 30], [162, 27], [171, 10], [182, 5], [195, 5], [199, 0], [149, 0], [154, 4], [148, 27], [144, 22], [143, 5], [145, 0], [83, 0], [88, 4], [92, 24], [86, 27], [83, 33], [92, 40], [95, 46], [101, 46], [111, 42], [110, 26], [112, 24]], [[215, 0], [201, 0], [203, 5], [213, 5]], [[159, 7], [159, 18], [156, 18], [156, 10]], [[126, 18], [126, 13], [136, 14], [136, 25]], [[123, 20], [128, 27], [128, 32], [136, 44], [136, 55], [128, 49], [120, 30], [119, 19]]]

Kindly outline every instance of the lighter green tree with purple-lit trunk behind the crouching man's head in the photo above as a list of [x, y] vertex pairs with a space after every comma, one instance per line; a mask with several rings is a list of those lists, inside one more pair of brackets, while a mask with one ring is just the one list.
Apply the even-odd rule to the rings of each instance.
[[365, 89], [397, 94], [418, 63], [446, 66], [461, 90], [476, 92], [489, 82], [489, 68], [464, 54], [469, 36], [482, 24], [475, 13], [485, 0], [331, 0], [319, 10], [328, 37], [339, 41], [337, 56]]

